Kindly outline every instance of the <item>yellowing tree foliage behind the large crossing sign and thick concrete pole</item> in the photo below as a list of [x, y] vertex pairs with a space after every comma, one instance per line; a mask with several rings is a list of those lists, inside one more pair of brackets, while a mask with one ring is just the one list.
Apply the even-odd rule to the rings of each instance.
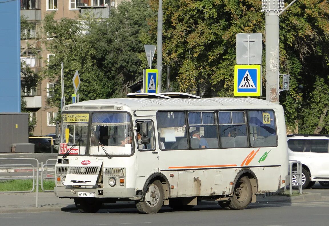
[[[157, 11], [158, 1], [150, 2]], [[261, 32], [264, 37], [261, 2], [164, 0], [163, 13], [163, 60], [170, 65], [175, 91], [207, 97], [208, 84], [211, 90], [219, 87], [217, 96], [233, 97], [236, 34]], [[293, 127], [299, 120], [300, 132], [329, 132], [329, 100], [325, 97], [329, 80], [328, 15], [326, 1], [315, 0], [296, 1], [280, 15], [280, 72], [291, 76], [291, 90], [281, 93], [280, 103], [285, 108], [287, 125]], [[155, 40], [157, 19], [151, 21]], [[265, 81], [265, 39], [262, 66]]]

